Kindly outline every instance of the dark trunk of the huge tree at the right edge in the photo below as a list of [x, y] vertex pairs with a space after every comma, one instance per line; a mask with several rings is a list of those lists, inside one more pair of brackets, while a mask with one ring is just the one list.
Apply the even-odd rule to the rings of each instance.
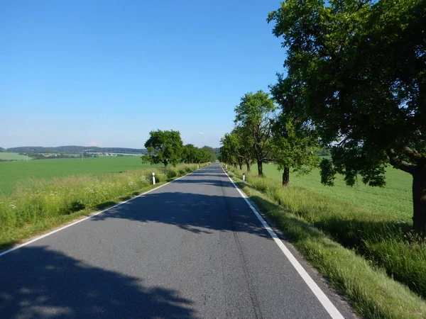
[[426, 167], [413, 172], [413, 229], [426, 236]]

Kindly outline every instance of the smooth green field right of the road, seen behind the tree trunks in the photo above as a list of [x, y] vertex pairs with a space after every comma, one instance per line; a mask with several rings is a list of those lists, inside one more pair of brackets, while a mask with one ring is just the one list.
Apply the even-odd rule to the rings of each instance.
[[[256, 165], [251, 168], [257, 172]], [[266, 164], [263, 167], [266, 177], [281, 180], [283, 172], [277, 170], [274, 164]], [[356, 186], [346, 186], [342, 176], [337, 176], [334, 186], [321, 184], [320, 171], [314, 169], [310, 174], [298, 177], [290, 173], [290, 184], [300, 186], [328, 198], [344, 201], [354, 206], [365, 208], [368, 214], [388, 215], [392, 219], [400, 219], [411, 222], [413, 216], [413, 198], [411, 196], [411, 184], [413, 177], [399, 169], [388, 167], [386, 172], [386, 186], [371, 187], [359, 180]]]

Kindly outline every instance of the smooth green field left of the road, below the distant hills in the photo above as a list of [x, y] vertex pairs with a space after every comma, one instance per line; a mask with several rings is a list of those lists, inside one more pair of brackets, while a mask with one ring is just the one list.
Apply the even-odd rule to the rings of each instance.
[[149, 167], [162, 167], [162, 165], [141, 164], [141, 157], [138, 156], [93, 157], [85, 158], [83, 161], [80, 158], [63, 158], [0, 162], [0, 193], [11, 194], [18, 185], [25, 184], [28, 179], [94, 176]]

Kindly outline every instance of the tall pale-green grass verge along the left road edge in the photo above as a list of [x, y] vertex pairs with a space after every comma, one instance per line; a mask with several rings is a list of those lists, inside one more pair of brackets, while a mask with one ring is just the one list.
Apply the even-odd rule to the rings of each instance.
[[0, 195], [0, 249], [113, 206], [195, 169], [197, 165], [178, 165], [167, 170], [26, 181], [10, 196]]

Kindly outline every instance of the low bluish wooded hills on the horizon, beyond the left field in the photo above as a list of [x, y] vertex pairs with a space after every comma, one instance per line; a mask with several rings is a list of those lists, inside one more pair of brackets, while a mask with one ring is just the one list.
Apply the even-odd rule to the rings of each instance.
[[126, 147], [96, 147], [96, 146], [58, 146], [58, 147], [43, 147], [43, 146], [21, 146], [11, 147], [1, 151], [13, 153], [81, 153], [81, 152], [100, 152], [100, 153], [121, 153], [121, 154], [146, 154], [145, 148], [126, 148]]

